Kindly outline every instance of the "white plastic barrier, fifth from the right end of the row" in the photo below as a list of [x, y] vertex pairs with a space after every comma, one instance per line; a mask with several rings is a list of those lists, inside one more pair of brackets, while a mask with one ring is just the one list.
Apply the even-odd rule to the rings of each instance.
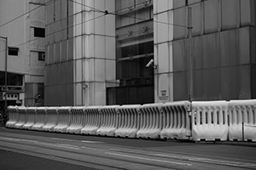
[[119, 108], [119, 128], [116, 137], [136, 138], [141, 105], [122, 105]]

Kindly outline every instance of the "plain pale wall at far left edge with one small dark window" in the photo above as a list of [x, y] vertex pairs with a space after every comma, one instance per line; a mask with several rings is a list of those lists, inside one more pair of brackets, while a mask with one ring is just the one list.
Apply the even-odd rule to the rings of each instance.
[[[12, 12], [9, 12], [12, 9]], [[0, 25], [7, 23], [9, 20], [13, 20], [17, 16], [24, 14], [26, 12], [26, 3], [25, 1], [0, 1]], [[8, 37], [8, 46], [15, 47], [23, 42], [26, 42], [25, 33], [26, 33], [26, 17], [22, 16], [19, 19], [10, 22], [9, 24], [2, 26], [0, 35], [2, 37]], [[5, 56], [5, 42], [3, 39], [0, 40], [0, 55]], [[25, 46], [20, 45], [18, 56], [9, 56], [8, 57], [8, 71], [26, 74], [25, 69]], [[0, 58], [0, 71], [5, 71], [5, 61], [4, 57]]]

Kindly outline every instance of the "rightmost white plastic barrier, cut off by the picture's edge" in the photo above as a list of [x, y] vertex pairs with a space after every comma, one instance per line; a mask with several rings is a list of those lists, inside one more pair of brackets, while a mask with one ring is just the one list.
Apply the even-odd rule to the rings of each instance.
[[[256, 141], [256, 99], [231, 100], [229, 139]], [[243, 126], [242, 126], [243, 123]], [[243, 131], [242, 131], [243, 130]]]

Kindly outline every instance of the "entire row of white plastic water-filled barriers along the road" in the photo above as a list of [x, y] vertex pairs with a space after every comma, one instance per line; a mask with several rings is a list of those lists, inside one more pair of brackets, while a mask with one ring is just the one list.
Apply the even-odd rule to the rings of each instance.
[[148, 105], [9, 106], [6, 127], [140, 139], [256, 141], [256, 99]]

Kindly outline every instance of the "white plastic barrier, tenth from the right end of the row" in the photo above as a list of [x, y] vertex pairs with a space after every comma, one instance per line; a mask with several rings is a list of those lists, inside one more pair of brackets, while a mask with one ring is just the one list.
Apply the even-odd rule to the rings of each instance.
[[45, 115], [45, 125], [42, 128], [43, 131], [53, 132], [54, 127], [58, 123], [58, 107], [48, 107]]

